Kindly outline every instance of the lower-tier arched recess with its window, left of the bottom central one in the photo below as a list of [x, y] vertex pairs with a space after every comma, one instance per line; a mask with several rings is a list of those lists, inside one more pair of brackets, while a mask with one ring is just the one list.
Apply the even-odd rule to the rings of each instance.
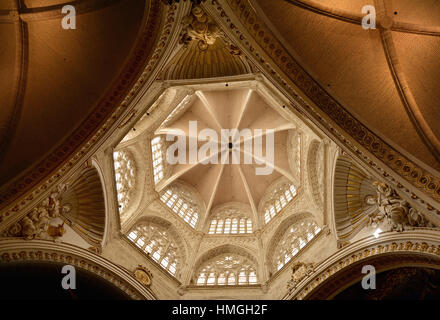
[[143, 217], [127, 232], [127, 237], [163, 269], [180, 278], [187, 250], [171, 222], [156, 216]]

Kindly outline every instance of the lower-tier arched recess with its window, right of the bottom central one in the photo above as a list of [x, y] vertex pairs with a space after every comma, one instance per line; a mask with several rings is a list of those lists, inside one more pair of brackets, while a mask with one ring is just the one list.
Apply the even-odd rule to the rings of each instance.
[[321, 227], [309, 212], [297, 213], [285, 219], [267, 247], [270, 273], [281, 270], [320, 232]]

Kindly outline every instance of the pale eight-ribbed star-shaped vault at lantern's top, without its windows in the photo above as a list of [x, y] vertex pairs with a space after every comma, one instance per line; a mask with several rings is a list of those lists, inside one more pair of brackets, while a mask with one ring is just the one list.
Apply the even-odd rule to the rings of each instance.
[[[167, 172], [156, 170], [155, 189], [163, 193], [183, 183], [199, 194], [206, 218], [219, 206], [237, 203], [237, 210], [255, 219], [269, 186], [280, 179], [297, 184], [287, 149], [294, 129], [254, 88], [197, 90], [155, 131], [153, 154], [161, 153], [156, 165]], [[240, 204], [251, 210], [238, 209]]]

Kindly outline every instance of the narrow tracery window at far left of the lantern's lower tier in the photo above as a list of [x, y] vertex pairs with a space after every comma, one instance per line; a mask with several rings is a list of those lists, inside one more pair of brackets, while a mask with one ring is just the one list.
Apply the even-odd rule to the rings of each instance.
[[134, 162], [130, 155], [124, 151], [113, 153], [115, 166], [116, 191], [119, 203], [119, 213], [127, 208], [132, 195], [132, 188], [135, 180]]

